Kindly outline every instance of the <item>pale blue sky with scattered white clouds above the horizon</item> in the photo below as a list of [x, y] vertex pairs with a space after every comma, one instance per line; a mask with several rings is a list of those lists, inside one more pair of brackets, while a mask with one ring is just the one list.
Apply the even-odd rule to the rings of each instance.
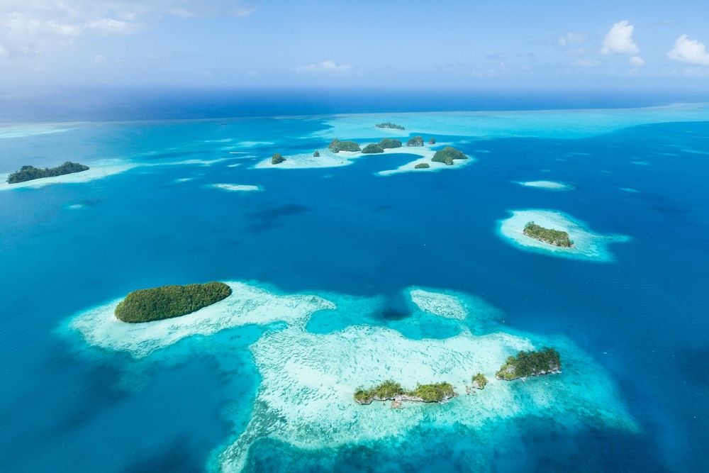
[[709, 91], [709, 1], [0, 0], [0, 88]]

